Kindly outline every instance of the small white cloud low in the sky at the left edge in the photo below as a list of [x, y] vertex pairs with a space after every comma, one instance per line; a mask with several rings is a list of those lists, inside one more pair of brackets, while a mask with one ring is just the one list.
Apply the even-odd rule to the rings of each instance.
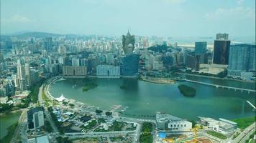
[[34, 22], [35, 19], [29, 19], [28, 17], [21, 16], [19, 14], [14, 14], [10, 18], [2, 19], [1, 21], [4, 23], [30, 23], [30, 22]]

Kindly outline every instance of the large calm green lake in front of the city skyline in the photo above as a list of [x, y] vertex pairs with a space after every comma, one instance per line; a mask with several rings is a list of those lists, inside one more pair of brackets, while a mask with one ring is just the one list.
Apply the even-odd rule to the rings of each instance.
[[[192, 77], [191, 77], [192, 78]], [[195, 80], [201, 80], [196, 77]], [[204, 79], [218, 83], [219, 79]], [[93, 82], [96, 89], [82, 92], [83, 86]], [[204, 81], [207, 82], [207, 81]], [[74, 86], [76, 84], [76, 86]], [[239, 92], [228, 89], [216, 89], [201, 84], [182, 82], [196, 88], [196, 97], [184, 97], [178, 90], [178, 84], [152, 84], [137, 79], [67, 79], [56, 82], [50, 88], [53, 97], [76, 99], [101, 109], [110, 109], [112, 105], [129, 107], [124, 116], [155, 115], [155, 112], [166, 112], [185, 119], [197, 119], [198, 116], [214, 118], [239, 118], [255, 115], [246, 100], [255, 104], [255, 92]], [[254, 84], [219, 80], [219, 84], [246, 86], [255, 88]], [[120, 89], [125, 85], [127, 89]], [[135, 116], [136, 115], [136, 116]]]

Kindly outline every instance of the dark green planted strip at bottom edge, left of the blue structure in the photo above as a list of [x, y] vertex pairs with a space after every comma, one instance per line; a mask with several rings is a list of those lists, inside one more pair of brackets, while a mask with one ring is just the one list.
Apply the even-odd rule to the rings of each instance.
[[150, 122], [144, 122], [142, 124], [142, 134], [140, 134], [140, 143], [152, 143], [152, 124]]

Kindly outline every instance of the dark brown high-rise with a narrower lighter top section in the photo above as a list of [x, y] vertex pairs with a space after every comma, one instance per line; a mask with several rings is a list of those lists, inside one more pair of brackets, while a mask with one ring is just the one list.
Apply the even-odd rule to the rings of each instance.
[[229, 64], [229, 46], [230, 40], [227, 40], [228, 34], [217, 34], [214, 40], [214, 64]]

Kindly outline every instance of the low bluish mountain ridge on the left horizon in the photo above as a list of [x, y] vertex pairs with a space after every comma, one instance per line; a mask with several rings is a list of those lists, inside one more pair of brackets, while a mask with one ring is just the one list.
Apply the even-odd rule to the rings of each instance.
[[43, 38], [47, 36], [61, 36], [61, 34], [52, 34], [52, 33], [47, 33], [47, 32], [25, 32], [23, 34], [17, 34], [15, 35], [17, 37], [37, 37], [37, 38]]

